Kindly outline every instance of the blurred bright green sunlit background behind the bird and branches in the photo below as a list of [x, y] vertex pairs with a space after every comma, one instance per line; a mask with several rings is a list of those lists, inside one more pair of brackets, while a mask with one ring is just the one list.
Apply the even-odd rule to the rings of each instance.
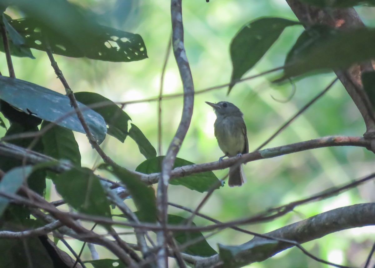
[[[55, 56], [72, 90], [97, 92], [115, 102], [156, 97], [160, 90], [160, 75], [171, 33], [169, 1], [76, 0], [74, 2], [101, 14], [102, 24], [141, 35], [147, 48], [148, 59], [139, 62], [112, 63]], [[375, 24], [373, 8], [359, 8], [358, 11], [366, 24], [369, 26]], [[183, 1], [185, 48], [195, 90], [229, 82], [231, 39], [244, 24], [262, 16], [296, 20], [284, 0], [211, 0], [209, 3], [204, 0]], [[266, 56], [246, 76], [282, 66], [287, 51], [302, 30], [302, 26], [288, 27]], [[13, 57], [16, 77], [65, 93], [46, 54], [36, 50], [32, 52], [36, 57], [34, 60]], [[7, 75], [5, 55], [2, 56], [0, 71], [3, 75]], [[296, 93], [290, 101], [283, 103], [282, 101], [293, 93], [293, 85], [272, 84], [271, 81], [279, 74], [273, 73], [237, 84], [229, 96], [226, 94], [227, 87], [196, 95], [190, 129], [178, 157], [199, 164], [217, 161], [222, 156], [213, 134], [216, 117], [211, 107], [204, 101], [225, 100], [233, 102], [242, 110], [248, 128], [249, 148], [252, 151], [335, 78], [333, 73], [329, 73], [294, 81]], [[180, 76], [171, 54], [165, 72], [163, 93], [181, 91]], [[177, 129], [181, 118], [181, 107], [181, 97], [162, 101], [162, 155], [165, 154]], [[157, 149], [157, 102], [145, 101], [127, 105], [124, 111]], [[267, 145], [267, 148], [328, 135], [362, 136], [365, 131], [365, 124], [353, 101], [344, 87], [336, 83], [323, 98]], [[92, 168], [100, 163], [86, 136], [75, 134], [83, 157], [83, 166]], [[121, 143], [108, 136], [102, 147], [113, 160], [131, 170], [145, 160], [135, 142], [129, 138]], [[247, 176], [246, 184], [240, 188], [225, 186], [216, 190], [201, 212], [220, 221], [250, 217], [265, 209], [302, 199], [368, 175], [374, 172], [373, 160], [373, 154], [366, 149], [342, 147], [315, 149], [248, 163], [244, 167]], [[214, 173], [218, 178], [222, 178], [226, 172], [228, 170]], [[373, 202], [374, 190], [373, 182], [368, 182], [339, 196], [299, 206], [295, 212], [290, 212], [272, 222], [243, 227], [259, 233], [269, 232], [330, 209]], [[52, 200], [59, 199], [51, 184], [47, 194]], [[204, 194], [182, 186], [169, 187], [169, 200], [189, 208], [195, 208], [203, 197]], [[131, 205], [132, 201], [126, 200], [126, 202]], [[169, 212], [181, 216], [188, 215], [174, 208], [170, 208]], [[115, 210], [114, 213], [119, 212]], [[206, 220], [199, 217], [195, 217], [194, 222], [197, 225], [208, 224]], [[238, 245], [251, 238], [252, 236], [244, 233], [226, 229], [208, 238], [207, 241], [217, 250], [217, 243]], [[363, 266], [374, 240], [374, 227], [365, 227], [327, 235], [303, 246], [312, 254], [330, 262]], [[73, 239], [68, 241], [76, 251], [80, 250], [82, 242]], [[133, 240], [130, 239], [131, 241]], [[66, 250], [62, 243], [58, 246]], [[110, 252], [100, 247], [97, 247], [97, 250], [101, 258], [114, 258]], [[85, 249], [83, 259], [90, 258], [89, 250]], [[324, 265], [309, 259], [297, 248], [283, 251], [264, 262], [249, 265], [254, 268], [321, 266]]]

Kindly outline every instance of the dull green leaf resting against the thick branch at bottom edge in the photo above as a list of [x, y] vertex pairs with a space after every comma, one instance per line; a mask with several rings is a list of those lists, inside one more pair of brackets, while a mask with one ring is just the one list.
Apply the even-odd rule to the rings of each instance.
[[224, 262], [224, 267], [242, 267], [249, 263], [249, 259], [244, 259], [239, 256], [240, 253], [246, 253], [246, 256], [251, 256], [251, 262], [261, 262], [269, 258], [269, 253], [273, 251], [278, 244], [279, 242], [275, 240], [249, 241], [238, 246], [218, 244], [219, 257]]

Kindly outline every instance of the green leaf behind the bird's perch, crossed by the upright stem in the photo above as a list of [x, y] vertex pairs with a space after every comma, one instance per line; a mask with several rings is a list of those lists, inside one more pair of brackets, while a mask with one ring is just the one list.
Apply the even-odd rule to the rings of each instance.
[[[139, 164], [139, 166], [136, 167], [135, 171], [145, 174], [161, 172], [163, 159], [164, 156], [158, 156], [151, 159], [147, 159], [143, 161], [141, 164]], [[173, 168], [188, 165], [194, 165], [194, 163], [181, 158], [176, 158], [176, 160], [174, 161]], [[211, 187], [213, 187], [214, 185], [216, 185], [216, 189], [219, 189], [220, 185], [222, 185], [219, 179], [217, 179], [217, 177], [214, 175], [212, 171], [201, 172], [192, 175], [187, 175], [181, 178], [171, 179], [169, 181], [169, 184], [183, 185], [191, 190], [195, 190], [200, 193], [204, 193], [205, 191], [210, 190]]]

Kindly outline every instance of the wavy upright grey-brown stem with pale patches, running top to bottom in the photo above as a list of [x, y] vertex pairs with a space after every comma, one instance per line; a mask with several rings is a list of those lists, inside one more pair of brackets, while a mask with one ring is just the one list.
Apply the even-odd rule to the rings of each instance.
[[171, 20], [173, 54], [177, 63], [178, 71], [180, 72], [181, 81], [183, 84], [184, 98], [181, 121], [178, 125], [176, 134], [168, 147], [166, 155], [163, 158], [160, 183], [157, 187], [156, 204], [159, 212], [160, 224], [163, 227], [163, 232], [157, 233], [158, 245], [162, 246], [162, 248], [157, 254], [157, 256], [159, 257], [157, 263], [160, 268], [168, 267], [168, 230], [166, 229], [166, 224], [168, 213], [167, 190], [169, 178], [176, 155], [180, 150], [181, 144], [190, 126], [194, 102], [193, 78], [191, 75], [189, 62], [187, 61], [186, 52], [184, 48], [182, 0], [171, 0]]

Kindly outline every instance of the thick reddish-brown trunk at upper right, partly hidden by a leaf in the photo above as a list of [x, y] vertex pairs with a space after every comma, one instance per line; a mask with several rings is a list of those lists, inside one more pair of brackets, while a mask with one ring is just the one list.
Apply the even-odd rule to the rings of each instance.
[[[329, 12], [323, 9], [306, 5], [298, 0], [286, 0], [296, 17], [307, 24], [327, 24], [341, 29], [355, 29], [364, 27], [364, 24], [354, 8], [336, 9], [330, 8]], [[358, 110], [362, 114], [366, 124], [365, 137], [375, 137], [375, 113], [371, 102], [363, 90], [361, 74], [364, 71], [374, 71], [370, 62], [354, 65], [347, 71], [335, 73], [353, 99]], [[375, 148], [374, 148], [375, 149]]]

